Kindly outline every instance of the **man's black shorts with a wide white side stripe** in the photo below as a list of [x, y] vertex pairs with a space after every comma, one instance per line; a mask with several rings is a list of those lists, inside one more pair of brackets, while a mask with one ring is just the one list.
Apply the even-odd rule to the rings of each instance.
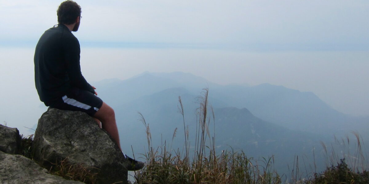
[[60, 110], [81, 111], [93, 117], [102, 105], [103, 100], [93, 93], [72, 88], [65, 96], [51, 102], [50, 107]]

